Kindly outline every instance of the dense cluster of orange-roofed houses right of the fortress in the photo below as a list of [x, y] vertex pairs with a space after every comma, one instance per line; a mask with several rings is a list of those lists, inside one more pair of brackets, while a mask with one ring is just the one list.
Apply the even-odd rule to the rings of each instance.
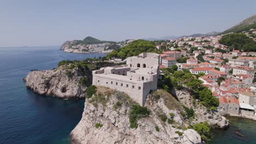
[[[225, 45], [218, 42], [221, 37], [218, 35], [170, 40], [168, 43], [177, 44], [181, 51], [174, 51], [173, 47], [169, 47], [171, 51], [162, 52], [160, 68], [177, 65], [178, 70], [188, 69], [192, 74], [205, 74], [199, 79], [202, 80], [203, 86], [212, 91], [214, 97], [219, 98], [218, 110], [222, 115], [253, 117], [256, 110], [256, 83], [253, 82], [256, 52], [239, 50], [232, 50], [228, 53], [216, 52], [217, 49], [227, 50]], [[197, 50], [188, 53], [191, 46], [197, 47]], [[207, 46], [214, 48], [207, 49]], [[200, 54], [205, 62], [200, 63], [197, 60]], [[182, 57], [188, 57], [187, 63], [177, 62], [177, 59]], [[224, 79], [220, 83], [218, 83], [219, 77]]]

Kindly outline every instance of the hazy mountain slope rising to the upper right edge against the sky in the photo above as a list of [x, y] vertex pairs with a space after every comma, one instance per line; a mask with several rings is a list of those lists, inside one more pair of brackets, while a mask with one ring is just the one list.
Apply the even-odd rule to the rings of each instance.
[[231, 32], [241, 33], [243, 31], [248, 31], [251, 28], [256, 29], [256, 14], [251, 17], [248, 17], [247, 19], [238, 23], [236, 26], [226, 29], [226, 31], [224, 31], [220, 34], [226, 34], [226, 33], [231, 33]]

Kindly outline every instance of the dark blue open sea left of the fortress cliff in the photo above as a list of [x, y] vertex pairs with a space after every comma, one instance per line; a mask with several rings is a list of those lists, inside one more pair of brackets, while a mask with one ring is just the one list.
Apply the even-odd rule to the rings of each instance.
[[57, 67], [63, 59], [106, 56], [65, 53], [58, 47], [0, 48], [0, 143], [69, 143], [82, 117], [84, 99], [45, 97], [22, 81], [31, 69]]

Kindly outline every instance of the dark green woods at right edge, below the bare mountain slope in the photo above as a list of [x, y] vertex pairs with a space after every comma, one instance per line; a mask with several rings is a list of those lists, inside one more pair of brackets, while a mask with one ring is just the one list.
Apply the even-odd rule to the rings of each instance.
[[223, 35], [222, 39], [219, 40], [219, 43], [229, 46], [230, 50], [235, 49], [247, 52], [256, 51], [256, 42], [243, 33]]

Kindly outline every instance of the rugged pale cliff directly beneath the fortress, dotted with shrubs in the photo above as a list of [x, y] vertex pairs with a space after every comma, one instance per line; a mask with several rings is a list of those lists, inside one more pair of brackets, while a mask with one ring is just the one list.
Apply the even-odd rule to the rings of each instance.
[[[183, 93], [178, 95], [185, 96]], [[196, 109], [194, 121], [185, 119], [181, 116], [184, 111], [182, 104], [160, 89], [149, 94], [144, 105], [150, 115], [138, 119], [138, 127], [131, 128], [134, 103], [124, 93], [97, 87], [97, 93], [86, 100], [82, 119], [71, 132], [71, 143], [201, 143], [200, 135], [190, 125], [212, 119], [208, 115], [200, 119], [203, 113], [207, 113], [205, 109]], [[213, 115], [218, 120], [212, 121], [212, 126], [228, 124], [224, 117], [219, 118], [218, 113]]]

